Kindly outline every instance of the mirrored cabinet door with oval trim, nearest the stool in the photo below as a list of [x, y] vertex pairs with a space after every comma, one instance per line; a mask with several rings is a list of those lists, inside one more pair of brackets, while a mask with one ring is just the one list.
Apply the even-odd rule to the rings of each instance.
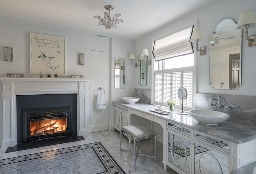
[[168, 131], [168, 162], [181, 173], [189, 174], [191, 140]]

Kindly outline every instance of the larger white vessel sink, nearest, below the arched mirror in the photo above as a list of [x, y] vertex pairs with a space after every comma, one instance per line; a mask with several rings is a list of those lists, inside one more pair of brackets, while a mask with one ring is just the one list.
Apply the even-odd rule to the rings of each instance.
[[217, 125], [229, 117], [229, 114], [214, 110], [189, 110], [188, 113], [196, 121], [206, 125]]

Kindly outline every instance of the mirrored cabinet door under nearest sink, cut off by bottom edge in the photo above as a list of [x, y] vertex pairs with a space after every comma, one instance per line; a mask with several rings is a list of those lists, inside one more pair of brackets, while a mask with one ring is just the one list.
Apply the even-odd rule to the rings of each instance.
[[228, 174], [228, 155], [194, 142], [195, 174]]

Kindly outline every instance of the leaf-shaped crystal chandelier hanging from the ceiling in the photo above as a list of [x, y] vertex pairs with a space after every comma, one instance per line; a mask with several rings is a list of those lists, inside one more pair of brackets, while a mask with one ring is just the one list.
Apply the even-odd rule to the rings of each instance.
[[116, 28], [116, 24], [119, 24], [119, 22], [124, 22], [122, 19], [118, 19], [119, 16], [121, 16], [121, 14], [119, 14], [119, 13], [115, 14], [113, 16], [113, 18], [111, 19], [110, 10], [113, 10], [114, 6], [106, 5], [104, 7], [106, 8], [106, 10], [108, 10], [108, 12], [104, 12], [104, 19], [100, 16], [94, 16], [94, 18], [97, 18], [98, 20], [100, 20], [99, 26], [104, 25], [106, 27], [106, 29], [112, 28], [112, 27]]

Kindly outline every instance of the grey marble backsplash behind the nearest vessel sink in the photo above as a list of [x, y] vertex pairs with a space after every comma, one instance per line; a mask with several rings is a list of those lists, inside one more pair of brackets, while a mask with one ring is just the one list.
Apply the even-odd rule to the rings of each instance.
[[[234, 109], [210, 106], [210, 99], [221, 98], [221, 103], [234, 105]], [[213, 100], [218, 104], [218, 100]], [[256, 96], [196, 93], [196, 109], [216, 110], [230, 115], [227, 121], [256, 127]]]

